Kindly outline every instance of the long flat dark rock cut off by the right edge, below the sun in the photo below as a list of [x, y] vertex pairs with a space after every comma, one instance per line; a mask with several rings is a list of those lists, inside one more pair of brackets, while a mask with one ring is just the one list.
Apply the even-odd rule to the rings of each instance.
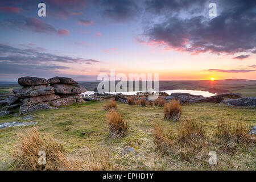
[[234, 106], [256, 106], [256, 97], [245, 97], [245, 98], [238, 98], [238, 99], [227, 99], [221, 101], [226, 105], [234, 105]]

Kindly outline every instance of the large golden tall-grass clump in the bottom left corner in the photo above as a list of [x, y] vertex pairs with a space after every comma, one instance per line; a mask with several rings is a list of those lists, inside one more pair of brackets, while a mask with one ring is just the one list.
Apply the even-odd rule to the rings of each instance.
[[[55, 142], [50, 135], [40, 135], [36, 128], [28, 129], [25, 133], [18, 133], [19, 143], [12, 152], [14, 168], [18, 170], [54, 170], [55, 163], [64, 152], [63, 147]], [[38, 152], [47, 155], [46, 165], [39, 165]]]

